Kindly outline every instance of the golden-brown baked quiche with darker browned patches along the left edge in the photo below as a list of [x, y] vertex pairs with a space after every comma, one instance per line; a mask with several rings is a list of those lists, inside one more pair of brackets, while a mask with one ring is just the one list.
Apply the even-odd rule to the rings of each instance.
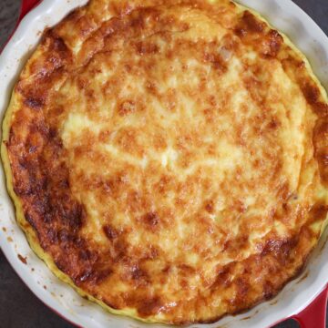
[[91, 0], [48, 29], [3, 124], [17, 220], [78, 292], [147, 322], [271, 298], [327, 218], [308, 61], [226, 0]]

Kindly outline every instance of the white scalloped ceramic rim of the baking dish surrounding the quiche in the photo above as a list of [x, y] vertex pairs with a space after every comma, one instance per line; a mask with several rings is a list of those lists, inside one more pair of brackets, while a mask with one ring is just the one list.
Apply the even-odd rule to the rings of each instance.
[[[14, 37], [0, 56], [0, 113], [5, 108], [15, 80], [40, 39], [40, 31], [46, 26], [54, 26], [67, 13], [87, 0], [44, 0], [30, 14], [26, 15]], [[241, 0], [266, 17], [272, 26], [291, 37], [296, 46], [310, 59], [317, 77], [328, 87], [328, 37], [313, 20], [292, 3], [291, 0]], [[72, 323], [88, 328], [100, 327], [144, 327], [144, 323], [126, 317], [109, 314], [92, 302], [87, 302], [59, 282], [29, 248], [24, 233], [15, 222], [15, 211], [5, 190], [5, 177], [0, 169], [0, 246], [8, 261], [26, 285], [36, 296], [57, 313]], [[270, 302], [264, 302], [248, 313], [226, 317], [220, 323], [197, 324], [197, 327], [253, 327], [263, 328], [299, 313], [323, 290], [328, 281], [328, 238], [326, 231], [319, 247], [314, 251], [310, 263], [302, 276], [290, 282], [279, 295]], [[27, 263], [18, 259], [18, 254]], [[307, 278], [302, 280], [302, 277]], [[46, 286], [46, 288], [45, 288]], [[245, 320], [247, 318], [247, 320]], [[244, 320], [242, 320], [244, 319]], [[162, 327], [162, 325], [151, 325]], [[193, 326], [193, 327], [196, 327]]]

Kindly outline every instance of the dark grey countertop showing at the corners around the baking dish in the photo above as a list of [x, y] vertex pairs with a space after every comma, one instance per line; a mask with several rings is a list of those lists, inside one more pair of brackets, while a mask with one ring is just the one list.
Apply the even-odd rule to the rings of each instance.
[[[55, 0], [56, 1], [56, 0]], [[257, 0], [261, 1], [261, 0]], [[327, 0], [293, 0], [311, 15], [328, 34]], [[0, 48], [15, 26], [20, 0], [0, 0]], [[73, 325], [59, 318], [40, 302], [20, 281], [0, 251], [0, 327], [3, 328], [68, 328]], [[294, 328], [297, 323], [288, 321], [276, 328]], [[328, 323], [326, 325], [328, 328]], [[309, 327], [315, 328], [315, 327]]]

